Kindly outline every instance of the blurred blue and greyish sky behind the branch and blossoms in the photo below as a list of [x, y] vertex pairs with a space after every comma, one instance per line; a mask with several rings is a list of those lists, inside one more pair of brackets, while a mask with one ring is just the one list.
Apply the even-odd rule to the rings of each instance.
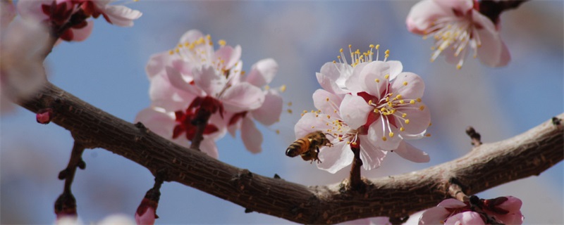
[[[429, 63], [431, 40], [407, 32], [405, 17], [416, 1], [144, 1], [128, 4], [142, 11], [133, 27], [94, 22], [82, 42], [62, 43], [47, 58], [50, 82], [123, 120], [133, 122], [149, 106], [145, 65], [154, 53], [168, 51], [191, 29], [217, 41], [240, 44], [244, 70], [262, 58], [280, 66], [271, 86], [286, 84], [285, 103], [294, 112], [314, 108], [319, 89], [315, 72], [336, 60], [348, 44], [366, 51], [369, 44], [390, 49], [404, 71], [426, 84], [423, 98], [431, 110], [430, 138], [410, 143], [431, 156], [416, 164], [388, 154], [379, 169], [362, 171], [376, 178], [448, 162], [471, 150], [465, 128], [472, 125], [482, 142], [508, 139], [563, 112], [563, 1], [528, 1], [501, 16], [501, 37], [512, 60], [505, 68], [487, 68], [471, 57], [462, 70], [443, 58]], [[289, 107], [285, 105], [285, 110]], [[264, 176], [275, 173], [305, 185], [334, 184], [348, 177], [317, 169], [284, 155], [294, 141], [299, 113], [260, 127], [263, 152], [253, 155], [237, 136], [217, 144], [219, 160]], [[279, 129], [280, 134], [275, 130]], [[49, 224], [53, 204], [63, 191], [57, 175], [67, 165], [73, 139], [56, 124], [37, 124], [18, 108], [0, 117], [0, 223]], [[133, 217], [153, 185], [147, 169], [104, 149], [86, 150], [87, 167], [78, 170], [73, 193], [82, 221], [109, 214]], [[509, 169], [509, 168], [508, 168]], [[514, 195], [523, 201], [525, 224], [564, 224], [563, 163], [540, 176], [513, 181], [479, 193], [480, 198]], [[287, 224], [290, 221], [245, 209], [177, 183], [165, 183], [157, 224]]]

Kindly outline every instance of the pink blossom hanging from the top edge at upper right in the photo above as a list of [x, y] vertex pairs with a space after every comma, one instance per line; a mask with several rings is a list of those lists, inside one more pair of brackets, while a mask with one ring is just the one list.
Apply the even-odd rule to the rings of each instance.
[[460, 69], [470, 48], [485, 65], [507, 65], [510, 55], [498, 27], [477, 8], [479, 2], [472, 0], [419, 1], [407, 15], [407, 30], [435, 39], [431, 61], [444, 51], [446, 60]]

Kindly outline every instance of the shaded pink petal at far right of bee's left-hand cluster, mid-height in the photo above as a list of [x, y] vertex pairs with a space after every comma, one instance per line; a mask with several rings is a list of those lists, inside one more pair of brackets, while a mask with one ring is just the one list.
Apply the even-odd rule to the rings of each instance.
[[264, 95], [264, 103], [253, 110], [252, 117], [258, 122], [269, 126], [280, 120], [280, 115], [282, 114], [283, 100], [278, 92], [274, 90], [266, 91]]

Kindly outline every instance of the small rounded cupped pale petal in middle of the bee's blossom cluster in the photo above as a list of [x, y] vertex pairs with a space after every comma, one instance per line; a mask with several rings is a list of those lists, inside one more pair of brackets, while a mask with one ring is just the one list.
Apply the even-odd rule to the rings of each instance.
[[350, 128], [357, 129], [366, 124], [368, 114], [373, 113], [372, 106], [368, 105], [360, 96], [345, 95], [339, 107], [341, 118]]

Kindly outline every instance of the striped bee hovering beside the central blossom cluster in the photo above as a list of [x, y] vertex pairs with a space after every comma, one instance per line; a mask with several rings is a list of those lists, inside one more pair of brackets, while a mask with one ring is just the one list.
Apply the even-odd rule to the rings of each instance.
[[[330, 135], [330, 134], [329, 134]], [[333, 146], [329, 139], [326, 138], [325, 134], [321, 131], [314, 131], [307, 134], [305, 137], [294, 141], [288, 149], [286, 149], [286, 155], [290, 157], [295, 157], [297, 155], [302, 156], [305, 161], [321, 162], [317, 155], [319, 154], [319, 147], [323, 146]]]

